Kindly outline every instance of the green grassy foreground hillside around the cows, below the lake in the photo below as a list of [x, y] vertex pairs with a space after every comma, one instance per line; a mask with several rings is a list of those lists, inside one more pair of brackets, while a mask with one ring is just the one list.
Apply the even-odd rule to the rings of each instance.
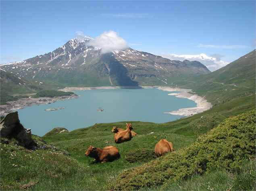
[[[109, 190], [109, 183], [115, 181], [124, 170], [129, 171], [130, 168], [155, 160], [151, 153], [154, 152], [158, 140], [167, 138], [179, 152], [193, 144], [198, 136], [218, 126], [225, 118], [253, 108], [255, 95], [237, 98], [201, 114], [165, 124], [132, 122], [134, 131], [139, 136], [122, 144], [114, 143], [114, 134], [110, 130], [112, 126], [124, 128], [125, 122], [95, 124], [72, 132], [59, 133], [60, 129], [54, 129], [46, 134], [43, 140], [60, 150], [45, 144], [37, 136], [34, 138], [42, 145], [38, 150], [27, 150], [18, 146], [16, 140], [9, 140], [6, 144], [5, 139], [1, 138], [1, 190], [21, 189], [21, 186], [29, 181], [39, 181], [31, 187], [33, 190]], [[84, 156], [90, 145], [101, 148], [116, 146], [121, 158], [112, 163], [95, 164], [93, 158]], [[133, 156], [138, 154], [145, 156], [143, 161], [134, 160]], [[130, 163], [131, 161], [134, 163]], [[226, 190], [240, 183], [238, 180], [243, 178], [243, 187], [239, 187], [239, 184], [233, 186], [235, 190], [242, 190], [244, 183], [251, 187], [253, 177], [250, 173], [254, 169], [253, 161], [243, 164], [244, 166], [238, 169], [241, 173], [230, 174], [225, 169], [212, 170], [203, 176], [193, 175], [187, 177], [187, 180], [167, 181], [164, 185], [141, 189], [186, 190], [196, 188], [197, 185], [200, 185], [201, 189], [207, 189], [210, 185], [210, 188], [215, 190]]]

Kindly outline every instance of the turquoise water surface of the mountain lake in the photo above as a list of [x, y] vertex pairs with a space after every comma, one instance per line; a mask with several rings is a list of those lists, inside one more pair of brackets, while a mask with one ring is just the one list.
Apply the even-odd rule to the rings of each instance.
[[[181, 118], [164, 114], [181, 108], [196, 107], [194, 101], [168, 95], [159, 89], [94, 89], [74, 91], [78, 99], [30, 106], [18, 110], [19, 119], [32, 134], [43, 136], [55, 127], [69, 131], [95, 123], [145, 121], [164, 123]], [[48, 108], [63, 110], [45, 111]], [[98, 112], [97, 109], [104, 109]], [[124, 124], [125, 125], [125, 124]]]

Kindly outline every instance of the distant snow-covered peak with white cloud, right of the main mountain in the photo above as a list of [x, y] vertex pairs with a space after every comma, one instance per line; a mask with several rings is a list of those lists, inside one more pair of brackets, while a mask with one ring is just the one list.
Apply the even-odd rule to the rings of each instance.
[[168, 58], [171, 60], [189, 60], [189, 61], [199, 61], [200, 63], [204, 64], [210, 71], [215, 71], [217, 69], [220, 69], [224, 67], [225, 65], [229, 64], [228, 62], [225, 62], [221, 60], [221, 55], [214, 54], [210, 56], [207, 56], [204, 53], [201, 53], [200, 55], [176, 55], [176, 54], [169, 54], [169, 55], [162, 55], [164, 58]]

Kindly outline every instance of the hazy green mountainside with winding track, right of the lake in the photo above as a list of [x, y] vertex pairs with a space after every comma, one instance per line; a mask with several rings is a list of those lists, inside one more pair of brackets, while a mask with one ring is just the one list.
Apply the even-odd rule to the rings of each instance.
[[212, 104], [221, 104], [255, 93], [256, 50], [207, 75], [192, 77], [178, 83], [199, 95], [206, 96]]

